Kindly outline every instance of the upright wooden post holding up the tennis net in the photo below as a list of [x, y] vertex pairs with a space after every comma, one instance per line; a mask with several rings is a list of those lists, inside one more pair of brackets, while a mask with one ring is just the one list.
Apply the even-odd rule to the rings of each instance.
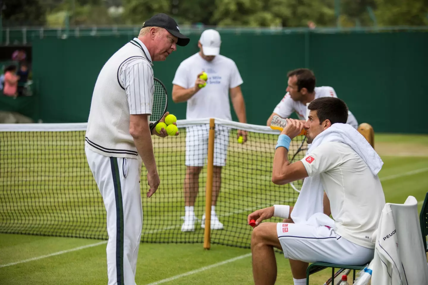
[[204, 232], [204, 248], [211, 248], [211, 201], [213, 190], [213, 168], [214, 168], [214, 137], [215, 123], [214, 119], [210, 119], [210, 131], [208, 135], [208, 162], [207, 162], [207, 184], [205, 189], [205, 232]]

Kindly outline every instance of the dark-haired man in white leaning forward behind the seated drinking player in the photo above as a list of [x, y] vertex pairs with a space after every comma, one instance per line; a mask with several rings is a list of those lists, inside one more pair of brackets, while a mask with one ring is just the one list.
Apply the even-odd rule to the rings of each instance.
[[[281, 102], [276, 105], [272, 115], [270, 115], [266, 124], [270, 126], [273, 116], [278, 115], [285, 119], [290, 118], [290, 115], [295, 112], [300, 120], [306, 121], [307, 104], [320, 97], [335, 97], [336, 91], [330, 86], [315, 87], [315, 75], [307, 68], [298, 68], [290, 71], [287, 74], [288, 86], [287, 93]], [[348, 111], [347, 122], [355, 129], [358, 129], [357, 119]]]

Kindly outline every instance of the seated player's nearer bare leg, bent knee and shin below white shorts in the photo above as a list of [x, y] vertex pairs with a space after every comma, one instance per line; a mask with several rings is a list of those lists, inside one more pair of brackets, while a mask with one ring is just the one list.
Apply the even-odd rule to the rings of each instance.
[[273, 247], [281, 249], [276, 223], [261, 223], [251, 235], [253, 278], [255, 285], [273, 285], [276, 281], [276, 259]]

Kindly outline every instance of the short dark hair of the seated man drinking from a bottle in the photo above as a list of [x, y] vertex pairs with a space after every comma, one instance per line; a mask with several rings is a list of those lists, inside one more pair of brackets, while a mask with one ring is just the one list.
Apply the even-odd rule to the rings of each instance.
[[309, 104], [308, 109], [317, 111], [320, 124], [325, 120], [330, 120], [332, 125], [333, 123], [346, 123], [348, 120], [348, 106], [339, 98], [321, 97], [315, 99]]

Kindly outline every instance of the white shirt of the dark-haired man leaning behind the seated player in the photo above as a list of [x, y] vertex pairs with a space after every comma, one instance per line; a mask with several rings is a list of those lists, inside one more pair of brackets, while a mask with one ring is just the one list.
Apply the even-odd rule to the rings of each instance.
[[[320, 97], [337, 98], [337, 95], [333, 87], [330, 87], [330, 86], [315, 87], [314, 99], [317, 99]], [[276, 105], [275, 109], [273, 110], [273, 112], [278, 114], [279, 117], [281, 118], [290, 118], [290, 115], [293, 112], [296, 112], [297, 117], [299, 117], [300, 120], [307, 120], [306, 111], [307, 111], [306, 105], [304, 105], [300, 101], [294, 101], [293, 99], [291, 99], [289, 92], [285, 94], [284, 98], [282, 98], [281, 102], [279, 102], [278, 105]], [[348, 111], [348, 121], [346, 123], [350, 124], [355, 129], [358, 129], [357, 119], [349, 111]]]

